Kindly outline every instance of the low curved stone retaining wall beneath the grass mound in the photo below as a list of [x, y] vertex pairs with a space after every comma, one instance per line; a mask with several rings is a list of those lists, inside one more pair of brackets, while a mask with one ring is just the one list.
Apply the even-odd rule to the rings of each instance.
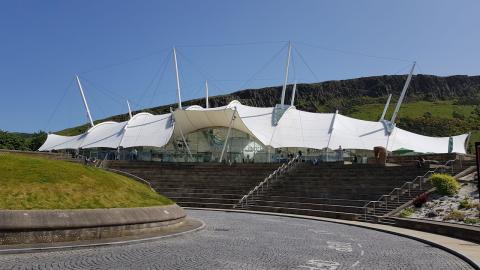
[[0, 245], [93, 240], [159, 232], [179, 226], [178, 205], [79, 209], [0, 210]]

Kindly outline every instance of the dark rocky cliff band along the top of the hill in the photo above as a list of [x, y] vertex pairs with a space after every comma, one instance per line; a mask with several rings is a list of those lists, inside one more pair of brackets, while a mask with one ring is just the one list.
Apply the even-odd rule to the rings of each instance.
[[[298, 84], [295, 106], [310, 112], [332, 112], [339, 109], [344, 113], [354, 105], [366, 103], [384, 103], [388, 93], [398, 98], [406, 80], [406, 75], [383, 75], [350, 80], [326, 81], [321, 83]], [[271, 107], [280, 102], [282, 87], [246, 89], [231, 94], [210, 97], [210, 106], [217, 107], [238, 100], [242, 104], [256, 107]], [[287, 88], [286, 102], [290, 103], [292, 86]], [[480, 95], [480, 76], [455, 75], [439, 77], [433, 75], [415, 75], [407, 92], [407, 102], [415, 100], [446, 100]], [[204, 99], [183, 102], [183, 106], [204, 106]], [[176, 104], [159, 106], [142, 111], [153, 114], [167, 113]], [[116, 115], [99, 121], [125, 121], [127, 114]], [[76, 127], [85, 130], [85, 127]]]

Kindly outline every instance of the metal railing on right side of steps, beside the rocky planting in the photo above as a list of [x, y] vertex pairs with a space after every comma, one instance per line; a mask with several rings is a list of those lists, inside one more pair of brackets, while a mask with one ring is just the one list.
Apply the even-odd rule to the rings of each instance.
[[[373, 215], [376, 215], [375, 213], [375, 210], [376, 209], [380, 209], [380, 208], [385, 208], [385, 209], [388, 209], [388, 201], [391, 200], [391, 198], [393, 198], [394, 196], [396, 196], [396, 199], [397, 199], [397, 202], [400, 202], [400, 196], [407, 193], [408, 192], [408, 195], [411, 196], [411, 192], [412, 190], [418, 186], [419, 187], [419, 190], [422, 189], [422, 184], [425, 182], [425, 179], [434, 174], [434, 173], [437, 173], [439, 171], [441, 172], [445, 172], [445, 169], [450, 165], [452, 164], [453, 162], [455, 162], [455, 160], [449, 160], [447, 161], [444, 165], [440, 165], [438, 167], [436, 167], [435, 169], [433, 170], [428, 170], [424, 175], [421, 175], [421, 176], [417, 176], [415, 177], [415, 179], [413, 179], [413, 181], [409, 181], [409, 182], [405, 182], [402, 186], [400, 186], [399, 188], [394, 188], [390, 193], [388, 194], [385, 194], [385, 195], [382, 195], [380, 196], [380, 198], [378, 198], [378, 200], [376, 201], [369, 201], [367, 202], [363, 208], [364, 208], [364, 218], [365, 220], [367, 220], [367, 215], [369, 213], [369, 206], [371, 208], [373, 208]], [[453, 165], [450, 166], [451, 169], [452, 169], [452, 173], [453, 173]], [[418, 183], [417, 183], [418, 182]], [[382, 203], [384, 204], [384, 206], [382, 205]], [[377, 207], [377, 204], [378, 204], [378, 207]]]

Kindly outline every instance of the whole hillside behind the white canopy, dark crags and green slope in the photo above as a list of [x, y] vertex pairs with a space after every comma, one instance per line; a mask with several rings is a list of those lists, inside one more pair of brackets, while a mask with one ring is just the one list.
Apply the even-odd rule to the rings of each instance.
[[[406, 75], [384, 75], [350, 80], [326, 81], [297, 85], [295, 106], [309, 112], [334, 112], [364, 120], [378, 120], [388, 93], [393, 94], [387, 116], [391, 115], [400, 95]], [[291, 86], [286, 102], [290, 100]], [[242, 104], [258, 107], [274, 106], [280, 100], [281, 86], [246, 89], [227, 95], [210, 97], [210, 106], [217, 107], [238, 100]], [[183, 102], [183, 105], [204, 105], [203, 99]], [[153, 114], [167, 113], [169, 104], [141, 111]], [[138, 113], [140, 111], [136, 111]], [[125, 121], [127, 114], [115, 115], [106, 120]], [[428, 136], [449, 136], [474, 131], [471, 144], [480, 141], [480, 76], [456, 75], [440, 77], [415, 75], [402, 106], [398, 126]], [[88, 125], [68, 128], [60, 135], [76, 135], [86, 131]]]

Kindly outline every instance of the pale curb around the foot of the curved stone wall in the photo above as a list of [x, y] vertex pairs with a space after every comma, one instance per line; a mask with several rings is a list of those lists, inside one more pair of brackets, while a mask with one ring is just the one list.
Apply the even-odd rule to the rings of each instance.
[[[176, 237], [181, 236], [188, 233], [193, 233], [196, 231], [203, 230], [206, 226], [205, 222], [201, 219], [191, 219], [200, 222], [200, 226], [197, 228], [193, 228], [191, 230], [172, 233], [168, 235], [162, 236], [154, 236], [154, 237], [147, 237], [147, 238], [139, 238], [139, 239], [132, 239], [132, 240], [125, 240], [125, 241], [113, 241], [113, 242], [103, 242], [103, 243], [91, 243], [91, 244], [78, 244], [78, 245], [59, 245], [59, 246], [52, 246], [52, 247], [32, 247], [32, 248], [12, 248], [12, 249], [0, 249], [0, 255], [3, 254], [18, 254], [18, 253], [28, 253], [28, 252], [42, 252], [42, 251], [54, 251], [54, 250], [70, 250], [70, 249], [77, 249], [77, 248], [87, 248], [87, 247], [103, 247], [103, 246], [114, 246], [114, 245], [128, 245], [128, 244], [135, 244], [135, 243], [144, 243], [155, 241], [164, 238]], [[105, 239], [108, 241], [108, 239]]]

